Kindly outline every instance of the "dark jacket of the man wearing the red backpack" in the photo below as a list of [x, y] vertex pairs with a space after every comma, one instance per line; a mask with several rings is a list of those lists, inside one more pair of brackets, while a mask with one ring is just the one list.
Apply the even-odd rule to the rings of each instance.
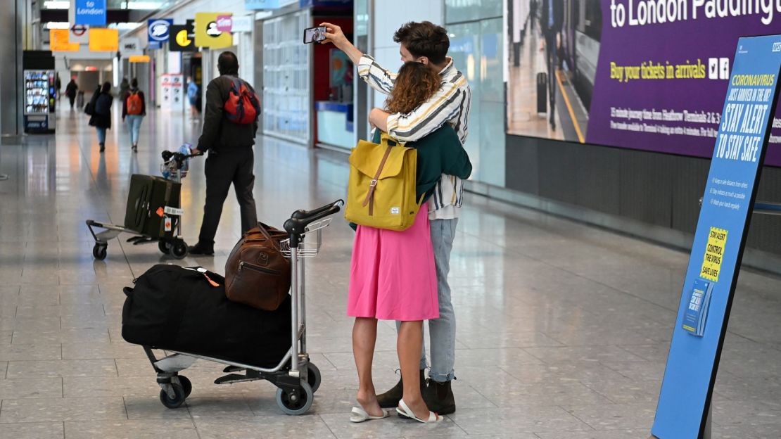
[[[230, 96], [230, 88], [233, 86], [232, 79], [236, 75], [222, 75], [216, 77], [206, 86], [206, 109], [204, 111], [203, 132], [198, 139], [198, 150], [205, 152], [223, 151], [230, 148], [251, 148], [255, 145], [255, 133], [258, 130], [258, 123], [247, 123], [240, 125], [230, 122], [223, 115], [223, 105]], [[248, 83], [252, 93], [255, 90]]]

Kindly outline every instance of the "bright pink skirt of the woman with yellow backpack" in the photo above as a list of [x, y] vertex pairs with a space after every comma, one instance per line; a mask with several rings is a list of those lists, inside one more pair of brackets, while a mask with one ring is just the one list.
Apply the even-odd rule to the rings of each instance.
[[383, 320], [439, 318], [437, 272], [426, 205], [404, 231], [358, 226], [347, 314]]

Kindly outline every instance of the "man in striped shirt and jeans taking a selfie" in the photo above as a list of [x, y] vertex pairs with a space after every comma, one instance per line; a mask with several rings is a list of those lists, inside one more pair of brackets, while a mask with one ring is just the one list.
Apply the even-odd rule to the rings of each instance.
[[[327, 28], [326, 40], [321, 44], [333, 43], [346, 53], [358, 66], [358, 75], [369, 86], [384, 94], [394, 89], [396, 73], [384, 69], [371, 56], [364, 55], [344, 36], [340, 27], [322, 23]], [[420, 62], [437, 73], [440, 87], [430, 98], [412, 112], [387, 112], [372, 109], [369, 122], [390, 134], [398, 141], [419, 141], [444, 124], [450, 125], [458, 134], [463, 145], [469, 125], [469, 107], [472, 91], [465, 76], [453, 66], [449, 58], [450, 40], [443, 27], [430, 22], [406, 23], [394, 34], [399, 43], [403, 62]], [[448, 272], [450, 253], [458, 224], [458, 210], [462, 205], [462, 180], [451, 175], [442, 175], [437, 190], [426, 204], [430, 219], [430, 234], [433, 244], [434, 262], [437, 273], [437, 297], [439, 318], [429, 320], [431, 370], [426, 383], [426, 344], [420, 359], [419, 380], [423, 400], [428, 408], [440, 415], [455, 412], [455, 397], [451, 381], [455, 379], [455, 312], [451, 302]], [[421, 207], [425, 209], [425, 207]], [[397, 322], [397, 329], [400, 324]], [[399, 380], [390, 391], [377, 395], [380, 407], [398, 405], [404, 391], [403, 380]]]

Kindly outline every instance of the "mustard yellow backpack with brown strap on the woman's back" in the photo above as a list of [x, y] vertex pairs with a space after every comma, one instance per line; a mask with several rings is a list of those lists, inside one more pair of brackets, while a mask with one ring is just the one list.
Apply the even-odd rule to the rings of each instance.
[[387, 134], [382, 134], [379, 145], [358, 141], [350, 154], [344, 218], [378, 229], [411, 227], [420, 208], [415, 199], [417, 164], [417, 150], [399, 145]]

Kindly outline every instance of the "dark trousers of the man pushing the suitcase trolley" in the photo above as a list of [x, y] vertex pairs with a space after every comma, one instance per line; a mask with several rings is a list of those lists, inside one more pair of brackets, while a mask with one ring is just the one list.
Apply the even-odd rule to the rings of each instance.
[[219, 217], [223, 215], [223, 204], [228, 196], [230, 184], [234, 184], [236, 199], [241, 209], [241, 233], [258, 225], [258, 212], [252, 187], [255, 175], [252, 167], [255, 159], [252, 148], [231, 148], [220, 152], [209, 152], [206, 159], [206, 204], [203, 206], [203, 223], [198, 242], [214, 244]]

